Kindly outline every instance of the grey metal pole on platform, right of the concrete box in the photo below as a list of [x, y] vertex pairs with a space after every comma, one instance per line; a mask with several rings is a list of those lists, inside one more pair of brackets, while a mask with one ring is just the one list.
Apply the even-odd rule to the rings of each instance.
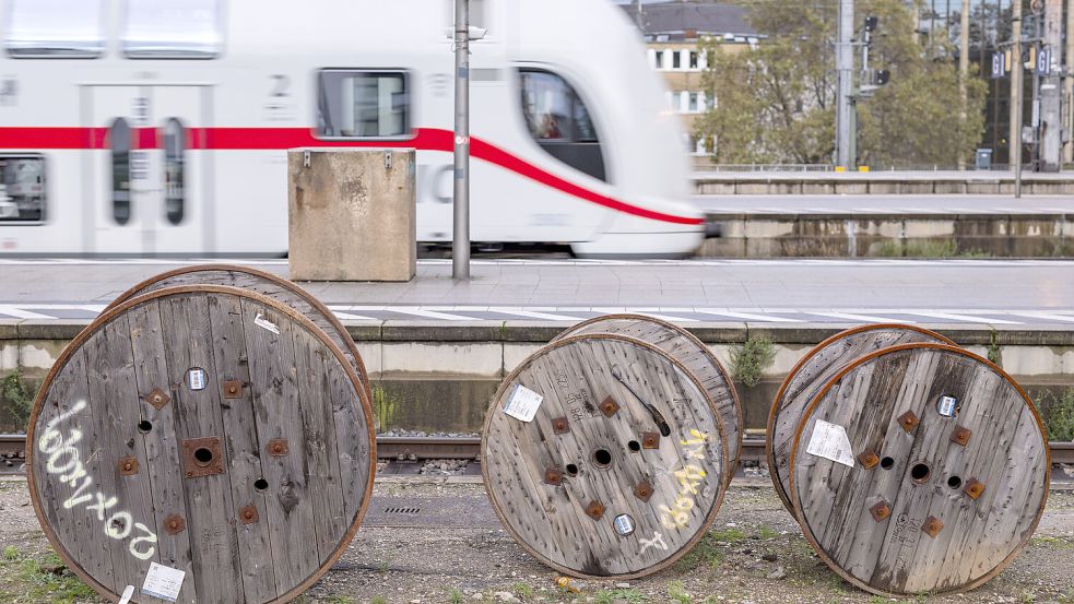
[[470, 0], [455, 0], [455, 224], [451, 276], [470, 279]]

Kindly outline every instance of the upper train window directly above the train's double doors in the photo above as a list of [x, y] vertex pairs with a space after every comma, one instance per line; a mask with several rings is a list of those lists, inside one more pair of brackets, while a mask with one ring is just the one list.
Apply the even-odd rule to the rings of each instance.
[[221, 0], [127, 0], [123, 55], [130, 59], [212, 59], [224, 45]]

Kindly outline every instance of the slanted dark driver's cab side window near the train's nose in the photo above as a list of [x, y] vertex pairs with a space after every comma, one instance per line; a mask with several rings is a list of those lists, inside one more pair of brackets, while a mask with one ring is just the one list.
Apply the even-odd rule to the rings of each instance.
[[548, 71], [523, 69], [519, 76], [522, 116], [538, 144], [570, 167], [607, 180], [597, 128], [578, 93]]

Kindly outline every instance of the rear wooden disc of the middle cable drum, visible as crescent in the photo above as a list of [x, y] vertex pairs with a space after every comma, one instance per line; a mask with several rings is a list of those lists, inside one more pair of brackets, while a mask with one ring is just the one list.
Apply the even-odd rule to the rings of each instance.
[[728, 437], [725, 485], [731, 483], [742, 451], [742, 406], [734, 383], [723, 365], [693, 333], [668, 321], [645, 315], [605, 315], [582, 321], [555, 339], [581, 333], [618, 333], [648, 342], [682, 362], [700, 381], [723, 419]]

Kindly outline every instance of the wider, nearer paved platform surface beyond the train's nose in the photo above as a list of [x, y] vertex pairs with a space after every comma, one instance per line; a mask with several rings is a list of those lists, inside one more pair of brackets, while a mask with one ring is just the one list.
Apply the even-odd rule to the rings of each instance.
[[1074, 214], [1074, 196], [695, 196], [706, 214]]

